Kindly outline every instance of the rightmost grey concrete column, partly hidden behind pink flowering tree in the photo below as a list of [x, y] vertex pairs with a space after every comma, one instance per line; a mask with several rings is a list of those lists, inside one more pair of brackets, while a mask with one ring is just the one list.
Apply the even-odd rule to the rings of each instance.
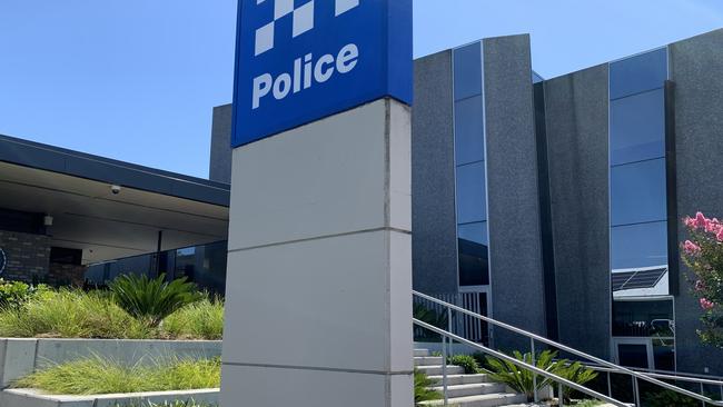
[[[675, 150], [677, 211], [723, 216], [720, 162], [723, 157], [723, 30], [670, 46], [671, 79], [675, 82]], [[679, 241], [690, 238], [679, 228]], [[675, 237], [674, 237], [675, 238]], [[703, 345], [696, 334], [703, 310], [691, 292], [681, 262], [675, 297], [675, 345], [679, 371], [723, 375], [723, 349]]]

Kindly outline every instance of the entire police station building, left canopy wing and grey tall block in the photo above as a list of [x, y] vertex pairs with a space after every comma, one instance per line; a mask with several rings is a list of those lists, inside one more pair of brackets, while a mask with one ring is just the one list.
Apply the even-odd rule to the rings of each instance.
[[[679, 256], [682, 217], [723, 217], [721, 78], [723, 30], [548, 80], [528, 36], [416, 60], [414, 288], [623, 365], [723, 376]], [[2, 276], [222, 292], [230, 111], [214, 109], [210, 181], [0, 138]]]

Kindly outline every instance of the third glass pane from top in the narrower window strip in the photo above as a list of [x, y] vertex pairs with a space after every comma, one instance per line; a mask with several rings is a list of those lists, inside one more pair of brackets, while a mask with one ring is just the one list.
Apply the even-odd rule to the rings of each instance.
[[485, 162], [457, 167], [457, 224], [487, 219]]

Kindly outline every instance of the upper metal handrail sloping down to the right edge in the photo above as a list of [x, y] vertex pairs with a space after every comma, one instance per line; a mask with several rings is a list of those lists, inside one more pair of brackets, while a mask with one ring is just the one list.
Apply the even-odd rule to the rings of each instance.
[[483, 316], [483, 315], [479, 315], [479, 314], [473, 312], [473, 311], [471, 311], [471, 310], [468, 310], [468, 309], [465, 309], [465, 308], [458, 307], [458, 306], [456, 306], [456, 305], [454, 305], [454, 304], [445, 302], [445, 301], [443, 301], [443, 300], [440, 300], [440, 299], [434, 298], [434, 297], [428, 296], [428, 295], [426, 295], [426, 294], [422, 294], [422, 292], [414, 291], [414, 290], [412, 291], [412, 294], [413, 294], [413, 296], [416, 296], [416, 297], [419, 297], [419, 298], [426, 299], [426, 300], [428, 300], [428, 301], [432, 301], [432, 302], [438, 304], [438, 305], [440, 305], [440, 306], [443, 306], [443, 307], [446, 307], [447, 309], [452, 309], [452, 310], [455, 310], [455, 311], [458, 311], [458, 312], [462, 312], [462, 314], [468, 315], [468, 316], [471, 316], [471, 317], [473, 317], [473, 318], [476, 318], [476, 319], [483, 320], [483, 321], [485, 321], [485, 322], [488, 322], [488, 324], [492, 324], [492, 325], [498, 326], [498, 327], [501, 327], [501, 328], [505, 328], [505, 329], [507, 329], [507, 330], [511, 330], [511, 331], [513, 331], [513, 332], [519, 334], [519, 335], [522, 335], [522, 336], [525, 336], [525, 337], [527, 337], [527, 338], [531, 339], [533, 354], [534, 354], [534, 349], [535, 349], [535, 340], [537, 340], [537, 341], [541, 341], [541, 343], [543, 343], [543, 344], [547, 344], [547, 345], [549, 345], [549, 346], [553, 346], [553, 347], [555, 347], [555, 348], [557, 348], [557, 349], [559, 349], [559, 350], [566, 351], [566, 353], [568, 353], [568, 354], [573, 354], [573, 355], [576, 355], [576, 356], [578, 356], [578, 357], [585, 358], [585, 359], [587, 359], [587, 360], [594, 361], [594, 363], [596, 363], [596, 364], [598, 364], [598, 365], [602, 365], [602, 366], [605, 366], [605, 367], [612, 368], [612, 369], [615, 370], [614, 373], [628, 375], [628, 376], [631, 376], [631, 377], [633, 378], [633, 393], [634, 393], [634, 395], [635, 395], [635, 404], [636, 404], [637, 406], [640, 406], [640, 399], [638, 399], [638, 398], [640, 398], [640, 394], [638, 394], [638, 391], [637, 391], [637, 387], [638, 387], [638, 386], [637, 386], [637, 380], [641, 379], [641, 380], [645, 380], [645, 381], [647, 381], [647, 383], [651, 383], [651, 384], [653, 384], [653, 385], [656, 385], [656, 386], [660, 386], [660, 387], [666, 388], [666, 389], [668, 389], [668, 390], [672, 390], [672, 391], [675, 391], [675, 393], [679, 393], [679, 394], [685, 395], [685, 396], [687, 396], [687, 397], [694, 398], [694, 399], [696, 399], [696, 400], [699, 400], [699, 401], [703, 401], [703, 403], [705, 403], [706, 405], [711, 405], [711, 406], [722, 406], [722, 407], [723, 407], [723, 401], [717, 401], [717, 400], [714, 400], [714, 399], [712, 399], [712, 398], [710, 398], [710, 397], [705, 397], [705, 396], [699, 395], [697, 393], [690, 391], [690, 390], [686, 390], [686, 389], [684, 389], [684, 388], [680, 388], [680, 387], [677, 387], [677, 386], [673, 386], [673, 385], [667, 384], [667, 383], [665, 383], [665, 381], [661, 381], [661, 380], [658, 380], [658, 379], [656, 379], [656, 378], [654, 378], [654, 377], [652, 377], [652, 376], [650, 376], [650, 375], [647, 375], [647, 374], [637, 373], [637, 371], [631, 370], [631, 369], [628, 369], [628, 368], [625, 368], [625, 367], [622, 367], [622, 366], [615, 365], [615, 364], [613, 364], [613, 363], [611, 363], [611, 361], [607, 361], [607, 360], [605, 360], [605, 359], [601, 359], [601, 358], [595, 357], [595, 356], [593, 356], [593, 355], [585, 354], [584, 351], [581, 351], [581, 350], [577, 350], [577, 349], [571, 348], [571, 347], [568, 347], [568, 346], [565, 346], [565, 345], [563, 345], [563, 344], [556, 343], [556, 341], [554, 341], [554, 340], [552, 340], [552, 339], [547, 339], [547, 338], [545, 338], [545, 337], [542, 337], [542, 336], [539, 336], [539, 335], [536, 335], [536, 334], [533, 334], [533, 332], [526, 331], [526, 330], [524, 330], [524, 329], [521, 329], [521, 328], [514, 327], [514, 326], [512, 326], [512, 325], [508, 325], [508, 324], [505, 324], [505, 322], [501, 322], [501, 321], [495, 320], [495, 319], [492, 319], [492, 318], [489, 318], [489, 317], [485, 317], [485, 316]]

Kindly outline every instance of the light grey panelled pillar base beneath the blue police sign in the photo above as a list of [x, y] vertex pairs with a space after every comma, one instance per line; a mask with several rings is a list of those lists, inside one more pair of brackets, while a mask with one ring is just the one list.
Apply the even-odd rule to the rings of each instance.
[[222, 407], [412, 407], [409, 108], [234, 150]]

